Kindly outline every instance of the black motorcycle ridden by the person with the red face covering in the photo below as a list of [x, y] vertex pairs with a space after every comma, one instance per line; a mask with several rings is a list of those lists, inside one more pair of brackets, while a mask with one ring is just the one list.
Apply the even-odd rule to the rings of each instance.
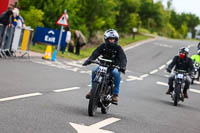
[[184, 101], [183, 88], [187, 74], [188, 73], [184, 70], [175, 71], [175, 86], [173, 92], [171, 93], [172, 100], [174, 101], [174, 106], [177, 106], [179, 101]]

